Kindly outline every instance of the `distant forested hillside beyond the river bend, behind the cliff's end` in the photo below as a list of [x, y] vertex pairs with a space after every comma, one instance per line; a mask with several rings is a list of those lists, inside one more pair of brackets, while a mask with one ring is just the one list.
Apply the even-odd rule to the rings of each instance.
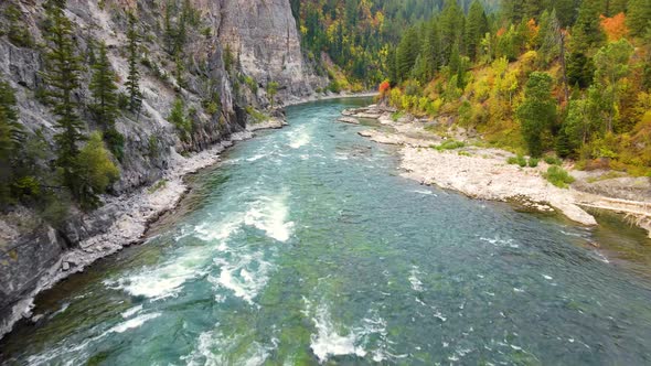
[[[469, 9], [471, 0], [461, 0]], [[487, 11], [499, 0], [483, 0]], [[380, 83], [387, 56], [405, 29], [430, 19], [444, 0], [309, 0], [291, 1], [306, 55], [329, 73], [332, 92], [362, 89]], [[327, 55], [334, 65], [324, 62]], [[341, 68], [342, 73], [338, 72]]]

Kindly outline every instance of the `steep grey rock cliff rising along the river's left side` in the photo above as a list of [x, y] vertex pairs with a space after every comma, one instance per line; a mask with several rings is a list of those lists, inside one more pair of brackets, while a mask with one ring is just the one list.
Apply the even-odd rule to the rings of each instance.
[[[54, 158], [55, 129], [50, 108], [39, 98], [43, 88], [39, 74], [43, 68], [43, 3], [0, 3], [0, 13], [6, 13], [10, 4], [20, 10], [18, 20], [0, 15], [0, 29], [18, 21], [35, 41], [33, 46], [19, 46], [0, 36], [0, 78], [17, 90], [25, 131], [46, 141], [43, 158], [36, 163], [49, 166]], [[172, 57], [167, 50], [166, 26], [179, 21], [180, 7], [184, 6], [192, 8], [198, 23], [188, 28], [183, 52]], [[137, 239], [147, 223], [174, 202], [162, 193], [143, 197], [148, 194], [143, 187], [172, 181], [166, 190], [178, 197], [182, 187], [173, 180], [193, 166], [214, 161], [204, 152], [198, 163], [193, 154], [206, 149], [214, 152], [215, 146], [218, 151], [224, 141], [242, 137], [238, 133], [252, 119], [247, 107], [263, 110], [269, 105], [265, 93], [268, 83], [279, 84], [279, 101], [308, 96], [327, 84], [303, 62], [288, 0], [68, 0], [66, 17], [75, 24], [78, 54], [88, 61], [93, 45], [106, 42], [120, 82], [128, 71], [127, 11], [136, 14], [142, 35], [139, 68], [143, 104], [140, 114], [124, 112], [116, 126], [126, 137], [120, 180], [113, 185], [111, 194], [103, 197], [103, 207], [82, 213], [73, 206], [57, 224], [24, 206], [0, 216], [0, 336], [18, 317], [29, 316], [29, 298], [40, 288]], [[89, 79], [89, 71], [84, 72], [83, 79]], [[192, 111], [192, 136], [185, 141], [167, 120], [178, 97]], [[87, 132], [97, 129], [85, 107], [90, 99], [87, 88], [83, 87], [76, 98]], [[218, 106], [216, 111], [206, 108], [211, 101]], [[121, 241], [116, 239], [116, 232]], [[113, 240], [120, 243], [108, 243]], [[79, 255], [86, 257], [78, 262], [71, 259]]]

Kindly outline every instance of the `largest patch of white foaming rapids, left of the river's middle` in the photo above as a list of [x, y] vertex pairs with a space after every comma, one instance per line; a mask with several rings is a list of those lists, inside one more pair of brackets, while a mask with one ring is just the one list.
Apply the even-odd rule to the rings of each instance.
[[228, 240], [243, 226], [250, 226], [277, 241], [287, 241], [294, 228], [294, 223], [288, 222], [288, 191], [260, 196], [245, 213], [231, 214], [217, 224], [202, 223], [195, 226], [194, 236], [213, 245], [185, 246], [178, 250], [178, 256], [158, 267], [117, 280], [106, 280], [105, 284], [135, 297], [160, 300], [178, 295], [186, 281], [206, 274], [210, 266], [216, 265], [221, 274], [216, 279], [212, 277], [212, 283], [230, 289], [236, 297], [253, 303], [267, 282], [271, 265], [264, 260], [264, 252], [256, 252], [253, 248], [232, 250]]

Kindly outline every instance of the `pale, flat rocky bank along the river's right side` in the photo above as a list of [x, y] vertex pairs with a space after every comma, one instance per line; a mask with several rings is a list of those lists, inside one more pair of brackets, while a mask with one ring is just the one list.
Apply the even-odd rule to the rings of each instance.
[[[557, 209], [586, 226], [597, 225], [597, 222], [584, 208], [613, 211], [626, 215], [632, 224], [648, 230], [651, 236], [651, 197], [633, 201], [622, 190], [611, 190], [609, 196], [599, 194], [604, 190], [593, 187], [605, 180], [595, 174], [576, 174], [574, 171], [570, 173], [577, 177], [577, 182], [569, 189], [559, 189], [545, 180], [544, 173], [549, 165], [544, 161], [536, 168], [508, 164], [506, 160], [514, 157], [513, 153], [473, 146], [472, 139], [462, 129], [450, 128], [444, 137], [430, 131], [436, 122], [418, 120], [409, 115], [402, 115], [394, 120], [394, 112], [395, 109], [373, 105], [344, 110], [342, 119], [348, 123], [355, 123], [355, 119], [357, 122], [359, 119], [377, 120], [382, 128], [359, 133], [378, 143], [402, 147], [399, 168], [405, 177], [455, 190], [479, 200], [517, 202], [538, 211]], [[462, 141], [463, 144], [453, 149], [435, 149], [448, 140]]]

